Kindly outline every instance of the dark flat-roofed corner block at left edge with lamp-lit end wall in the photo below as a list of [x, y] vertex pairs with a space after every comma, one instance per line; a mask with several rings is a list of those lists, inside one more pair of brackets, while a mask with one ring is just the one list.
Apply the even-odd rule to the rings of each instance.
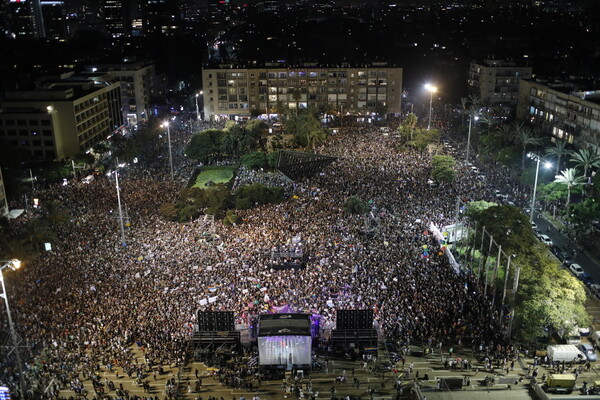
[[72, 73], [33, 91], [7, 92], [0, 103], [0, 142], [31, 159], [64, 159], [122, 125], [118, 83]]

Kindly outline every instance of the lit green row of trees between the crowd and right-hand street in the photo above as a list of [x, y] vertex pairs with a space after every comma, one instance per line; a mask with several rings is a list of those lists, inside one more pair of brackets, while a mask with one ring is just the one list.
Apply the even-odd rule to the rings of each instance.
[[[496, 257], [497, 250], [489, 252], [487, 246], [489, 236], [492, 236], [502, 251], [512, 257], [509, 279], [499, 278], [494, 288], [502, 288], [504, 282], [513, 282], [516, 269], [520, 270], [513, 304], [514, 326], [519, 339], [531, 341], [549, 332], [570, 330], [575, 325], [589, 326], [591, 321], [585, 310], [586, 294], [582, 282], [561, 268], [548, 248], [535, 239], [527, 216], [519, 208], [471, 202], [467, 216], [472, 225], [477, 226], [468, 239], [470, 251], [477, 249], [481, 250], [481, 257]], [[487, 235], [484, 238], [482, 227]], [[484, 242], [486, 245], [480, 247]]]

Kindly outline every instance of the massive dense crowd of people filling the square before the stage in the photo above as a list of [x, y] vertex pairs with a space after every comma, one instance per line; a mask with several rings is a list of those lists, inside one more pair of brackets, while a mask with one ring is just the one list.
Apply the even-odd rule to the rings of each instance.
[[[77, 384], [76, 376], [93, 376], [99, 364], [135, 375], [144, 364], [182, 362], [199, 308], [232, 310], [246, 324], [288, 305], [321, 315], [325, 326], [335, 324], [337, 309], [373, 309], [382, 334], [403, 342], [469, 338], [501, 346], [504, 326], [472, 277], [454, 272], [437, 251], [422, 256], [423, 245], [438, 248], [427, 224], [451, 223], [457, 195], [492, 200], [494, 187], [467, 166], [455, 184], [431, 187], [431, 155], [399, 150], [396, 140], [367, 125], [347, 127], [319, 150], [337, 162], [298, 182], [285, 203], [240, 211], [243, 223], [235, 226], [216, 222], [216, 242], [202, 240], [200, 221], [158, 216], [181, 187], [169, 182], [164, 159], [152, 174], [134, 169], [121, 179], [131, 222], [126, 246], [112, 179], [40, 190], [42, 205], [56, 199], [70, 219], [54, 227], [52, 251], [6, 277], [17, 331], [32, 346], [34, 390], [52, 379]], [[193, 165], [178, 154], [185, 180]], [[362, 216], [342, 210], [351, 195], [377, 215], [372, 236], [363, 235]], [[12, 222], [15, 233], [28, 218], [35, 217]], [[302, 237], [306, 268], [268, 269], [269, 251], [294, 236]], [[132, 343], [144, 348], [143, 362], [132, 359]], [[10, 384], [17, 382], [13, 373]]]

